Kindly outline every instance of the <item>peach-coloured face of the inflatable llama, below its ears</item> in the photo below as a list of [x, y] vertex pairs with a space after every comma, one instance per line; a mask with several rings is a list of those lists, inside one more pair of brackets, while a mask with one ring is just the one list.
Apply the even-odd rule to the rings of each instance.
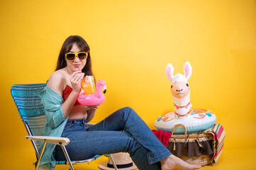
[[172, 96], [184, 98], [189, 94], [189, 83], [187, 81], [175, 81], [171, 85]]

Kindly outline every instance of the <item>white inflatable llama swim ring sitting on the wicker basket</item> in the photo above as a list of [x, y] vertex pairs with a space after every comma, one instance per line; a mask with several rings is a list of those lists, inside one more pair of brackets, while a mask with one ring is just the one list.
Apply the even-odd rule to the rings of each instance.
[[[173, 76], [174, 67], [167, 64], [165, 69], [167, 78], [172, 82], [171, 92], [174, 101], [174, 112], [160, 115], [155, 120], [157, 130], [172, 132], [177, 124], [183, 124], [187, 128], [187, 133], [199, 132], [210, 128], [216, 122], [216, 115], [206, 109], [191, 109], [189, 78], [192, 67], [186, 62], [183, 67], [184, 75]], [[183, 134], [184, 128], [176, 128], [174, 134]]]

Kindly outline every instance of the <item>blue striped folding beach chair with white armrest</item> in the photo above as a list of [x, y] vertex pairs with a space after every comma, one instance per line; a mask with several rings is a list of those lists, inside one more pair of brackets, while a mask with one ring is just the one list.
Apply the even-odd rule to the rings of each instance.
[[[15, 84], [11, 87], [11, 96], [13, 97], [13, 101], [18, 108], [18, 113], [20, 113], [21, 120], [23, 121], [29, 135], [26, 136], [26, 138], [31, 140], [32, 145], [35, 149], [35, 154], [37, 158], [35, 170], [38, 169], [40, 159], [43, 155], [45, 145], [47, 145], [47, 143], [60, 145], [62, 147], [67, 161], [57, 161], [57, 164], [69, 164], [69, 167], [72, 170], [74, 170], [73, 164], [91, 162], [98, 157], [101, 157], [101, 155], [96, 155], [91, 159], [86, 159], [82, 161], [71, 161], [65, 148], [65, 145], [69, 144], [69, 139], [67, 137], [43, 136], [46, 118], [43, 105], [40, 103], [41, 98], [38, 96], [38, 94], [44, 89], [44, 87], [45, 84]], [[43, 149], [40, 154], [39, 148], [41, 142], [43, 142]], [[109, 155], [109, 157], [111, 157], [111, 155]], [[114, 168], [117, 169], [112, 157], [111, 161], [113, 162]]]

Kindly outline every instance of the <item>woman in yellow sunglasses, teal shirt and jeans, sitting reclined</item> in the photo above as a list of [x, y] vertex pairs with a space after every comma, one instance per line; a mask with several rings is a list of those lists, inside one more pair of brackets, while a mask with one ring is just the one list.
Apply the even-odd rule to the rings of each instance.
[[[71, 160], [128, 152], [138, 169], [201, 168], [171, 154], [132, 108], [121, 108], [87, 129], [99, 106], [87, 109], [77, 103], [85, 75], [93, 75], [89, 46], [83, 38], [69, 36], [60, 50], [57, 68], [40, 97], [46, 115], [45, 135], [68, 137], [67, 152]], [[55, 159], [65, 160], [65, 155], [60, 146], [48, 145], [40, 169], [54, 169]]]

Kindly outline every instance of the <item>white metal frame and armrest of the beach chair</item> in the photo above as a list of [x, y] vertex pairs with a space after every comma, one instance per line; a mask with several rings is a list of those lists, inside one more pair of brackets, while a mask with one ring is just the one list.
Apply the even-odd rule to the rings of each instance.
[[[23, 85], [26, 85], [26, 84], [23, 84]], [[26, 136], [26, 139], [28, 139], [32, 142], [32, 145], [35, 149], [35, 154], [36, 154], [36, 157], [37, 157], [37, 162], [35, 162], [35, 170], [38, 170], [38, 166], [40, 164], [40, 159], [42, 158], [42, 155], [43, 155], [43, 152], [45, 150], [45, 146], [46, 146], [47, 143], [60, 145], [62, 147], [62, 150], [65, 154], [65, 157], [66, 157], [67, 161], [61, 161], [61, 162], [57, 161], [56, 164], [69, 164], [69, 168], [72, 169], [72, 170], [74, 170], [73, 164], [80, 164], [80, 163], [86, 163], [86, 162], [89, 163], [89, 162], [94, 161], [98, 157], [101, 157], [101, 155], [98, 154], [98, 155], [96, 155], [96, 156], [94, 156], [90, 159], [85, 159], [85, 160], [82, 160], [82, 161], [71, 161], [70, 158], [69, 158], [69, 154], [67, 153], [67, 149], [65, 147], [70, 142], [67, 137], [33, 136], [32, 131], [30, 130], [28, 123], [25, 120], [23, 120], [23, 124], [25, 125], [25, 128], [28, 132], [28, 136]], [[88, 123], [87, 128], [89, 128], [92, 125], [95, 125], [95, 124], [94, 123]], [[36, 145], [35, 145], [35, 141], [43, 142], [43, 147], [42, 147], [41, 154], [38, 151], [38, 147], [36, 147]], [[109, 157], [111, 158], [114, 169], [118, 170], [118, 168], [116, 166], [116, 163], [114, 162], [113, 157], [111, 156], [111, 154], [109, 154]]]

